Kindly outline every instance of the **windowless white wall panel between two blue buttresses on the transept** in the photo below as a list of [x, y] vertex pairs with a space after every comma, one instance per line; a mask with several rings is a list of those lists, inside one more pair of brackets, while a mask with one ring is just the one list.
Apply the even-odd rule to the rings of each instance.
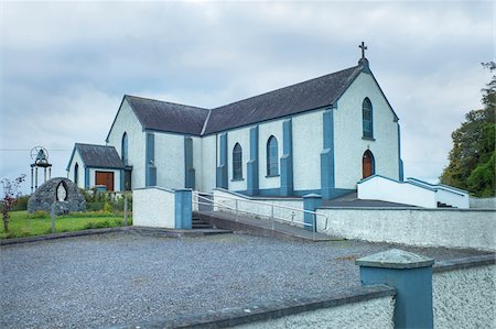
[[154, 135], [157, 186], [184, 188], [184, 135], [165, 132]]

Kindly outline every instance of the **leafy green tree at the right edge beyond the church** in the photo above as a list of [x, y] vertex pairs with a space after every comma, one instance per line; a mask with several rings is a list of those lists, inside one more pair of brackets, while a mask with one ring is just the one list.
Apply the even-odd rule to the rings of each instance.
[[[496, 70], [494, 62], [483, 63], [490, 73]], [[483, 109], [472, 110], [465, 116], [462, 127], [452, 133], [453, 149], [441, 183], [467, 189], [478, 197], [495, 195], [495, 111], [496, 75], [482, 89]]]

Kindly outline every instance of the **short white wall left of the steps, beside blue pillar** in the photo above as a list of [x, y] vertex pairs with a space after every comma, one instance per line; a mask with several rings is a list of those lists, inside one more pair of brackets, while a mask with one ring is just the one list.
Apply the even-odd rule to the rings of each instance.
[[132, 226], [175, 228], [174, 191], [145, 187], [132, 191]]

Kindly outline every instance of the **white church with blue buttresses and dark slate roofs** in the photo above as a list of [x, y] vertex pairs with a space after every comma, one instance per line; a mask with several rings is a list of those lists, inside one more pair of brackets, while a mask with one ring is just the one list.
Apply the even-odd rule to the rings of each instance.
[[364, 55], [356, 66], [214, 109], [126, 95], [106, 145], [76, 143], [67, 173], [82, 188], [326, 199], [374, 174], [403, 179], [398, 117]]

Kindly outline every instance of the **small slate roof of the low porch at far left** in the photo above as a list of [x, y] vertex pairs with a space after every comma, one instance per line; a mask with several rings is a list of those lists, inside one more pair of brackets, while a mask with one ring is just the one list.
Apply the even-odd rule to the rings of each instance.
[[122, 169], [123, 163], [114, 146], [76, 143], [74, 146], [87, 167]]

